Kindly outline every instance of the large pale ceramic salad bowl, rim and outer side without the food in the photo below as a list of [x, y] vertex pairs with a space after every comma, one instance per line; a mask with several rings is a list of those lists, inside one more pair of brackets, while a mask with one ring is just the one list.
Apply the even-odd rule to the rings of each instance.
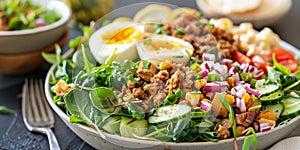
[[[295, 55], [299, 56], [299, 51], [292, 45], [281, 42], [281, 46], [285, 49], [290, 50]], [[65, 56], [69, 56], [71, 53], [66, 53]], [[69, 122], [69, 117], [63, 112], [52, 99], [52, 94], [50, 93], [49, 81], [51, 80], [51, 72], [56, 69], [56, 66], [53, 65], [46, 77], [45, 81], [45, 93], [47, 100], [53, 110], [57, 115], [63, 120], [63, 122], [81, 139], [90, 144], [96, 149], [105, 149], [105, 150], [117, 150], [117, 149], [133, 149], [133, 148], [146, 148], [147, 150], [158, 150], [165, 149], [165, 146], [162, 143], [155, 141], [146, 141], [138, 140], [126, 137], [120, 137], [118, 135], [112, 135], [104, 133], [107, 137], [106, 142], [98, 135], [97, 131], [93, 128], [81, 125], [81, 124], [72, 124]], [[287, 137], [291, 132], [295, 132], [298, 125], [300, 124], [300, 116], [292, 119], [287, 124], [276, 127], [270, 131], [257, 133], [257, 139], [259, 141], [259, 149], [266, 149], [277, 141]], [[295, 133], [294, 133], [295, 134]], [[239, 148], [242, 149], [243, 140], [245, 137], [238, 137], [237, 143]], [[182, 150], [182, 149], [202, 149], [202, 150], [211, 150], [211, 149], [234, 149], [233, 139], [220, 140], [219, 142], [185, 142], [185, 143], [171, 143], [166, 142], [169, 146], [168, 148], [172, 150]]]

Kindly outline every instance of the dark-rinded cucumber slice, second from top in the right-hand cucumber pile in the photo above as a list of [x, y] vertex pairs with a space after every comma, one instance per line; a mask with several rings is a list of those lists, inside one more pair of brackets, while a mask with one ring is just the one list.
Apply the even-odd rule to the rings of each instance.
[[261, 96], [259, 100], [263, 104], [273, 105], [276, 104], [278, 101], [280, 101], [284, 96], [284, 92], [282, 90], [277, 90], [274, 93], [271, 93], [269, 95]]

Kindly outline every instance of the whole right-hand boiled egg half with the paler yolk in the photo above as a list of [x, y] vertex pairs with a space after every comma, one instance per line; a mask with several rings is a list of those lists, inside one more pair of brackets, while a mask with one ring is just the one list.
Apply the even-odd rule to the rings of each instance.
[[168, 35], [153, 35], [137, 43], [141, 60], [155, 64], [169, 60], [186, 64], [193, 54], [193, 46], [182, 39]]

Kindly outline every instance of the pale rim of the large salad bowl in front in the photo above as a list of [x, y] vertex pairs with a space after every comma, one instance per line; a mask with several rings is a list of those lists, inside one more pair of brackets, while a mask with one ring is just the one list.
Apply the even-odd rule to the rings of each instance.
[[[280, 42], [280, 46], [281, 47], [284, 47], [285, 49], [288, 49], [289, 51], [291, 51], [292, 53], [294, 53], [296, 56], [300, 56], [300, 52], [299, 50], [292, 46], [291, 44], [285, 42], [285, 41], [281, 41]], [[69, 50], [67, 51], [63, 57], [68, 57], [70, 56], [74, 51], [73, 50]], [[44, 82], [44, 89], [45, 89], [45, 95], [46, 95], [46, 98], [47, 98], [47, 101], [48, 103], [50, 104], [50, 106], [52, 107], [52, 109], [57, 113], [57, 115], [62, 119], [62, 120], [65, 120], [65, 121], [69, 121], [69, 117], [67, 116], [66, 113], [64, 113], [53, 101], [53, 98], [52, 98], [52, 94], [50, 92], [50, 85], [49, 85], [49, 81], [51, 79], [51, 72], [53, 72], [55, 69], [56, 69], [56, 66], [57, 65], [52, 65], [50, 67], [50, 69], [48, 70], [47, 72], [47, 75], [46, 75], [46, 78], [45, 78], [45, 82]], [[65, 122], [64, 122], [65, 123]], [[70, 122], [69, 122], [70, 123]], [[71, 123], [70, 123], [71, 124]], [[278, 131], [282, 128], [285, 128], [285, 127], [290, 127], [292, 125], [295, 125], [295, 127], [297, 127], [298, 125], [300, 124], [300, 115], [291, 119], [290, 121], [288, 121], [286, 124], [283, 124], [283, 125], [280, 125], [278, 127], [275, 127], [273, 128], [272, 130], [269, 130], [269, 131], [266, 131], [266, 132], [258, 132], [256, 133], [256, 137], [259, 138], [261, 136], [264, 136], [264, 135], [267, 135], [267, 134], [270, 134], [270, 133], [273, 133], [275, 131]], [[97, 131], [91, 127], [88, 127], [88, 126], [85, 126], [85, 125], [82, 125], [82, 124], [78, 124], [78, 123], [72, 123], [73, 126], [75, 126], [76, 128], [81, 128], [82, 130], [85, 130], [89, 133], [93, 133], [94, 135], [98, 135]], [[74, 132], [74, 131], [73, 131]], [[233, 143], [233, 138], [229, 138], [229, 139], [223, 139], [223, 140], [219, 140], [218, 142], [212, 142], [212, 141], [208, 141], [208, 142], [179, 142], [179, 143], [176, 143], [176, 142], [158, 142], [158, 141], [151, 141], [151, 140], [142, 140], [142, 139], [134, 139], [134, 138], [128, 138], [128, 137], [122, 137], [120, 135], [117, 135], [117, 134], [110, 134], [110, 133], [107, 133], [105, 131], [103, 131], [104, 135], [108, 138], [111, 138], [111, 139], [116, 139], [118, 138], [119, 141], [123, 141], [123, 142], [135, 142], [135, 143], [139, 143], [141, 145], [152, 145], [152, 146], [155, 146], [155, 145], [159, 145], [159, 144], [167, 144], [168, 146], [178, 146], [178, 147], [186, 147], [186, 146], [212, 146], [212, 145], [217, 145], [217, 144], [220, 144], [220, 143], [230, 143], [232, 142]], [[80, 136], [79, 136], [80, 137]], [[239, 141], [243, 141], [247, 136], [240, 136], [240, 137], [237, 137], [236, 138], [236, 141], [239, 142]], [[80, 137], [81, 138], [81, 137]], [[101, 138], [99, 136], [99, 138]], [[133, 141], [134, 140], [134, 141]]]

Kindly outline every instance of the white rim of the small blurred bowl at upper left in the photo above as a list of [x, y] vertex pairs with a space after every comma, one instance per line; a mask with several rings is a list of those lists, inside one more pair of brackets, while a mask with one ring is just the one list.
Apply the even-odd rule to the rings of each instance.
[[0, 36], [9, 37], [9, 36], [17, 36], [17, 35], [30, 35], [30, 34], [49, 31], [67, 23], [72, 16], [72, 11], [67, 6], [67, 4], [59, 0], [49, 1], [48, 4], [46, 5], [46, 8], [55, 10], [61, 15], [61, 18], [58, 21], [43, 27], [37, 27], [37, 28], [25, 29], [25, 30], [0, 31]]

